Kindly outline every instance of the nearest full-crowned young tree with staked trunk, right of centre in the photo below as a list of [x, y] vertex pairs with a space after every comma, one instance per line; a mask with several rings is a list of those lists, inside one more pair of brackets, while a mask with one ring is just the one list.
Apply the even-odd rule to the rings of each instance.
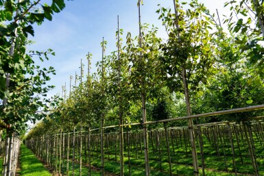
[[[183, 10], [180, 3], [174, 1], [174, 11], [160, 8], [160, 18], [169, 34], [167, 43], [162, 45], [164, 57], [163, 70], [167, 85], [172, 91], [184, 92], [187, 116], [191, 116], [190, 90], [206, 81], [210, 75], [214, 56], [213, 41], [209, 32], [210, 19], [204, 18], [204, 6], [197, 1], [189, 3], [191, 9]], [[186, 3], [183, 3], [186, 4]], [[189, 134], [195, 175], [199, 174], [197, 153], [193, 131], [193, 120], [189, 119]]]

